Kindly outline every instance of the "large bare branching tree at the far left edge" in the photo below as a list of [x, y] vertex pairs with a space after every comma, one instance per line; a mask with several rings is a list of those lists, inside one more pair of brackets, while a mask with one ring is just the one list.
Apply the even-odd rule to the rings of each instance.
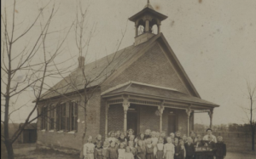
[[[55, 4], [53, 4], [52, 9], [50, 9], [49, 16], [46, 20], [42, 20], [42, 15], [45, 13], [44, 10], [49, 6], [49, 3], [39, 9], [39, 13], [35, 20], [33, 20], [30, 26], [20, 34], [16, 33], [16, 26], [18, 24], [15, 23], [15, 13], [17, 13], [15, 5], [16, 1], [14, 0], [13, 9], [10, 13], [12, 14], [11, 19], [8, 18], [8, 11], [6, 8], [4, 8], [3, 14], [1, 14], [3, 23], [3, 36], [1, 38], [1, 114], [3, 116], [3, 121], [1, 120], [1, 123], [3, 123], [4, 129], [4, 133], [1, 136], [1, 142], [6, 146], [9, 159], [15, 157], [12, 145], [20, 136], [20, 133], [26, 125], [34, 122], [39, 116], [42, 116], [42, 114], [38, 114], [35, 117], [32, 117], [32, 114], [37, 111], [39, 99], [41, 99], [42, 93], [46, 87], [45, 81], [48, 78], [55, 77], [56, 74], [65, 73], [67, 70], [67, 68], [55, 70], [55, 67], [61, 64], [61, 62], [56, 63], [55, 58], [62, 54], [63, 51], [61, 50], [61, 47], [67, 39], [68, 32], [73, 26], [71, 25], [70, 28], [67, 28], [67, 33], [64, 34], [65, 36], [57, 40], [55, 48], [51, 48], [47, 43], [49, 36], [53, 37], [56, 33], [60, 34], [60, 31], [50, 31], [49, 29], [53, 17], [57, 12], [57, 10], [55, 10]], [[34, 28], [39, 28], [38, 33], [33, 33], [34, 39], [32, 42], [24, 44], [24, 42], [26, 42], [26, 36], [29, 35]], [[20, 45], [23, 46], [23, 49], [19, 48]], [[20, 79], [15, 78], [17, 72], [20, 72], [23, 75]], [[5, 90], [3, 90], [3, 88]], [[10, 116], [15, 111], [19, 111], [25, 106], [19, 105], [19, 102], [17, 101], [20, 100], [20, 94], [25, 94], [27, 91], [32, 91], [35, 97], [32, 111], [26, 116], [25, 123], [10, 136]]]

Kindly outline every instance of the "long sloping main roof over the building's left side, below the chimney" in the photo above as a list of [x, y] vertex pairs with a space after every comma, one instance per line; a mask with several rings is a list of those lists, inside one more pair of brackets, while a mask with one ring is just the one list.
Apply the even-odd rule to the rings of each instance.
[[[67, 77], [56, 83], [55, 86], [49, 88], [41, 96], [42, 99], [49, 99], [52, 97], [60, 96], [61, 94], [68, 94], [77, 92], [84, 89], [85, 80], [90, 81], [86, 88], [97, 86], [102, 83], [109, 75], [113, 73], [120, 65], [123, 65], [127, 60], [130, 60], [134, 54], [137, 54], [144, 46], [150, 43], [148, 40], [137, 46], [131, 45], [103, 57], [102, 59], [84, 65], [84, 73], [81, 68], [77, 68], [70, 73]], [[86, 79], [84, 78], [84, 75]]]

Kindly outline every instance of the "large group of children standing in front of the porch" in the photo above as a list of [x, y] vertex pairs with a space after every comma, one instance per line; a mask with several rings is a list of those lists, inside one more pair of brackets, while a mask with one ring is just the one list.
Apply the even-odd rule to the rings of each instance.
[[[134, 131], [129, 129], [125, 133], [110, 132], [108, 139], [102, 142], [102, 135], [96, 136], [96, 142], [92, 142], [89, 136], [84, 144], [84, 159], [223, 159], [225, 145], [222, 137], [218, 136], [218, 142], [208, 135], [208, 140], [202, 140], [200, 135], [190, 133], [190, 137], [180, 132], [166, 136], [165, 132], [154, 132], [147, 129], [145, 133], [139, 133], [137, 137]], [[214, 136], [213, 136], [214, 137]], [[205, 147], [207, 151], [197, 151], [199, 147]]]

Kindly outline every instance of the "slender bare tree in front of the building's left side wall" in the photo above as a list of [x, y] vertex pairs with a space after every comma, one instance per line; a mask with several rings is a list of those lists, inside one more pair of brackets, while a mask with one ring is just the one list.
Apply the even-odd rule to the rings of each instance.
[[[65, 85], [62, 85], [62, 88], [71, 88], [73, 89], [73, 93], [77, 94], [79, 96], [80, 101], [74, 101], [79, 105], [79, 107], [84, 111], [84, 130], [83, 135], [81, 139], [81, 151], [80, 151], [80, 157], [83, 157], [83, 145], [84, 145], [84, 138], [86, 136], [87, 132], [87, 110], [88, 107], [90, 107], [90, 99], [92, 99], [95, 95], [96, 90], [102, 87], [102, 82], [104, 80], [100, 79], [106, 79], [109, 74], [111, 74], [114, 69], [119, 65], [117, 63], [116, 65], [112, 65], [114, 61], [116, 61], [119, 58], [119, 55], [117, 55], [119, 51], [119, 47], [123, 41], [123, 38], [125, 37], [126, 27], [124, 31], [121, 31], [121, 38], [117, 42], [117, 46], [114, 50], [114, 53], [111, 54], [111, 56], [108, 56], [107, 54], [107, 60], [108, 64], [104, 65], [100, 71], [95, 72], [94, 76], [88, 76], [85, 72], [87, 69], [86, 65], [84, 65], [84, 61], [89, 56], [89, 48], [90, 48], [90, 42], [91, 39], [94, 37], [96, 33], [96, 23], [94, 23], [92, 26], [88, 25], [88, 9], [90, 6], [88, 6], [86, 9], [83, 9], [83, 5], [81, 1], [78, 1], [77, 3], [77, 13], [76, 13], [76, 20], [74, 22], [74, 32], [75, 32], [75, 42], [76, 47], [78, 49], [78, 55], [79, 55], [79, 68], [78, 71], [80, 71], [80, 75], [83, 81], [83, 88], [81, 90], [80, 87], [77, 86], [77, 79], [78, 77], [62, 77], [62, 80], [66, 83]], [[127, 25], [126, 25], [127, 26]], [[125, 51], [125, 49], [124, 49]], [[122, 51], [120, 51], [122, 53]], [[97, 60], [97, 59], [96, 59]], [[120, 62], [120, 61], [119, 61]], [[110, 68], [109, 65], [112, 65]], [[97, 67], [97, 64], [95, 65]], [[56, 67], [57, 69], [57, 67]], [[61, 75], [61, 72], [59, 73]], [[98, 82], [101, 81], [101, 82]], [[94, 82], [98, 82], [96, 85], [93, 85]], [[92, 86], [93, 85], [93, 86]], [[61, 98], [64, 99], [70, 99], [70, 97], [66, 94], [63, 94], [61, 91], [58, 91], [59, 88], [53, 88], [52, 91], [55, 91], [55, 94], [58, 94], [61, 96]]]

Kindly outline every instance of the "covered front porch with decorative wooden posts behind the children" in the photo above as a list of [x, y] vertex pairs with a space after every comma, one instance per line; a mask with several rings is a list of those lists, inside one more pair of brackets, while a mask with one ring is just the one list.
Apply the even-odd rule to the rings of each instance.
[[126, 82], [102, 93], [105, 107], [105, 136], [112, 130], [135, 133], [150, 128], [174, 133], [193, 130], [195, 113], [208, 113], [212, 127], [211, 102], [183, 94], [172, 88], [161, 88], [141, 82]]

